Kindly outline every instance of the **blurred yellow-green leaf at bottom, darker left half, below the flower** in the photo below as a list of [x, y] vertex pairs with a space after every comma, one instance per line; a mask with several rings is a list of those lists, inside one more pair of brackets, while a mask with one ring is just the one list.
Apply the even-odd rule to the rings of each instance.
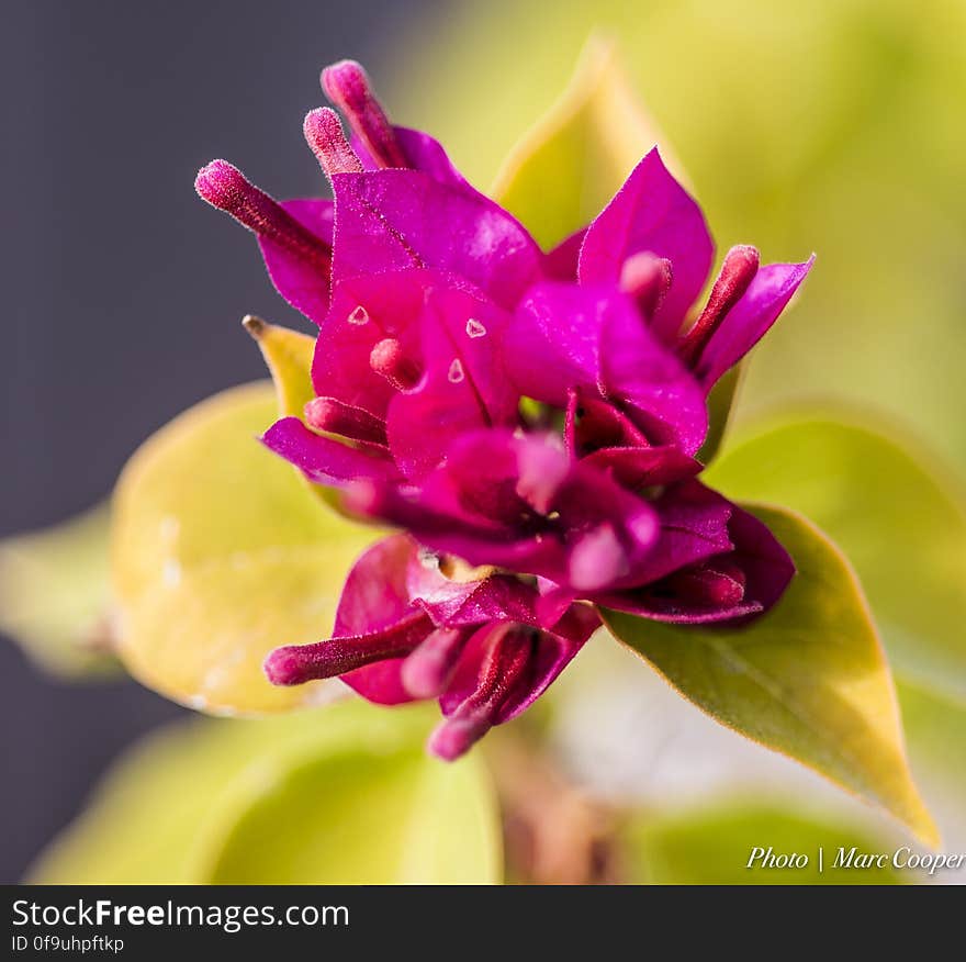
[[496, 882], [499, 832], [479, 756], [451, 765], [420, 745], [312, 753], [252, 771], [211, 838], [217, 884]]

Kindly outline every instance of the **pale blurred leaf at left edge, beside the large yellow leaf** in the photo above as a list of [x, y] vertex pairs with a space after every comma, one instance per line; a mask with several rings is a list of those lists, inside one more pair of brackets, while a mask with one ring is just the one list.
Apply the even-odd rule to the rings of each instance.
[[104, 506], [0, 541], [0, 630], [55, 674], [111, 671], [108, 569]]

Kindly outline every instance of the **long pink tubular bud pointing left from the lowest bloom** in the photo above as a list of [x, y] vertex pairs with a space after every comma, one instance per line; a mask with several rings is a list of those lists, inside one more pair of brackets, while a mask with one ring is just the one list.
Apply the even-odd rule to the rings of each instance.
[[276, 648], [265, 660], [265, 673], [273, 685], [300, 685], [321, 678], [335, 678], [389, 658], [403, 658], [433, 630], [428, 615], [415, 612], [394, 625], [368, 635], [329, 638], [314, 645]]

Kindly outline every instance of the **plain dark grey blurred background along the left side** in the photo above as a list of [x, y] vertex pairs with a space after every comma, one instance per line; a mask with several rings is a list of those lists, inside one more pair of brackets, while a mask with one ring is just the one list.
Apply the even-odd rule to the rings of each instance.
[[[433, 8], [4, 3], [0, 536], [96, 503], [175, 414], [262, 376], [242, 315], [304, 322], [194, 174], [223, 156], [278, 195], [324, 190], [301, 135], [318, 69], [353, 56], [379, 80], [380, 51]], [[52, 683], [0, 640], [0, 880], [121, 748], [180, 712], [131, 681]]]

